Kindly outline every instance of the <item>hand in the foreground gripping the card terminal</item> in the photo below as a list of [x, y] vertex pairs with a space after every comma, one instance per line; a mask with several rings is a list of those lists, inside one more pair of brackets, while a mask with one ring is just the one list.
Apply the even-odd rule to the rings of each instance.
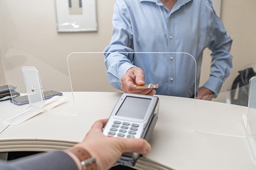
[[94, 122], [83, 142], [74, 147], [83, 147], [92, 157], [96, 158], [98, 169], [109, 169], [124, 152], [148, 153], [151, 146], [143, 138], [107, 137], [102, 129], [107, 119]]

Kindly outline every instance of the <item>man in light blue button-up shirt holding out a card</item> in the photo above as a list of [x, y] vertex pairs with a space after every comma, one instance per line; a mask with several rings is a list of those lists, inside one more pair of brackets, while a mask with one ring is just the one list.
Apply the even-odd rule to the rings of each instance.
[[[197, 99], [212, 100], [232, 70], [231, 45], [210, 0], [118, 0], [104, 49], [108, 79], [125, 92], [193, 97], [196, 91]], [[212, 50], [210, 76], [199, 87], [205, 48]], [[159, 88], [135, 89], [144, 83]]]

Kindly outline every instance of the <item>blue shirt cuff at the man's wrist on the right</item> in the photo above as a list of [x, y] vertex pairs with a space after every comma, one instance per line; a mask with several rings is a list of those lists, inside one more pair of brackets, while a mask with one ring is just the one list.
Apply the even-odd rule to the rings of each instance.
[[217, 97], [217, 95], [219, 94], [220, 88], [222, 87], [222, 84], [223, 84], [222, 81], [220, 81], [219, 79], [213, 76], [210, 76], [210, 78], [204, 83], [203, 87], [214, 92], [214, 94], [216, 95], [215, 97]]

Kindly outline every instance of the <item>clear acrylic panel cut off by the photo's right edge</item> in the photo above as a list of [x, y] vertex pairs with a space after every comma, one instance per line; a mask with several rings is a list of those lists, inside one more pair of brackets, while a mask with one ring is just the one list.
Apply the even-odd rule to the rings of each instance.
[[256, 77], [251, 78], [249, 82], [249, 101], [246, 118], [244, 120], [247, 123], [246, 136], [256, 161]]

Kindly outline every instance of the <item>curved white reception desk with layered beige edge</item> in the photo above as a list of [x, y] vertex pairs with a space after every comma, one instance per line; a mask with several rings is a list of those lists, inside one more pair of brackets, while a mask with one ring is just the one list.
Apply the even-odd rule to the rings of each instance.
[[[64, 150], [82, 141], [94, 121], [107, 118], [116, 105], [118, 92], [64, 92], [67, 102], [19, 125], [1, 123], [0, 152]], [[150, 139], [152, 151], [140, 158], [136, 169], [256, 169], [245, 137], [241, 116], [244, 107], [182, 97], [158, 96], [159, 119]], [[16, 114], [13, 105], [0, 102], [1, 122]], [[217, 135], [195, 131], [195, 112], [231, 119], [239, 135]], [[73, 109], [71, 109], [73, 110]], [[65, 112], [63, 114], [63, 111]], [[218, 127], [222, 128], [222, 127]], [[223, 128], [225, 128], [223, 126]]]

